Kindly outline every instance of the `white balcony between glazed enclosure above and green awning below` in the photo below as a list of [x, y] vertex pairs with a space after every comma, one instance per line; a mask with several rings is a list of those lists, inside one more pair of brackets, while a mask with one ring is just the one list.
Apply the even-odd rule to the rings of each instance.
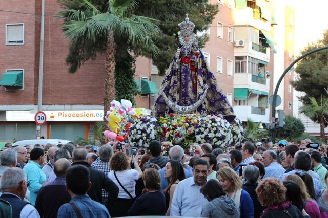
[[247, 88], [269, 93], [270, 79], [250, 73], [235, 73], [234, 88]]

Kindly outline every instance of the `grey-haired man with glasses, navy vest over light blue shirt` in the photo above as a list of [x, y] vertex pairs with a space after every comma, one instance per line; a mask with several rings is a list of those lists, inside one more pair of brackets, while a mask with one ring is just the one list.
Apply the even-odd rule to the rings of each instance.
[[1, 177], [3, 193], [0, 198], [10, 203], [13, 217], [40, 217], [30, 203], [23, 201], [28, 185], [25, 172], [18, 167], [8, 168]]

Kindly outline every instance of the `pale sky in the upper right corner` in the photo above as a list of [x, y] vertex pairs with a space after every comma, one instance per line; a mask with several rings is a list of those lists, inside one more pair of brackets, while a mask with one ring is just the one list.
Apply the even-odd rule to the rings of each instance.
[[295, 55], [309, 42], [322, 38], [328, 29], [328, 1], [286, 0], [295, 9]]

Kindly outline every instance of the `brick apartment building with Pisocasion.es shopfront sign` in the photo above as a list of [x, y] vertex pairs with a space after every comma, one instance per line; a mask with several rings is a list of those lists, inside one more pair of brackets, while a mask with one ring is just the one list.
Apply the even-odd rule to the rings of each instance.
[[[33, 139], [41, 0], [10, 0], [1, 6], [0, 74], [2, 82], [9, 83], [0, 86], [0, 141]], [[75, 74], [68, 73], [65, 58], [69, 43], [61, 31], [63, 19], [56, 17], [60, 9], [57, 0], [45, 1], [42, 111], [47, 115], [47, 123], [42, 126], [41, 135], [68, 140], [76, 136], [93, 139], [93, 124], [103, 119], [105, 57], [98, 55]], [[138, 70], [140, 64], [142, 71]], [[136, 68], [137, 81], [140, 77], [150, 78], [149, 59], [139, 58]], [[136, 106], [149, 108], [149, 99], [136, 96]]]

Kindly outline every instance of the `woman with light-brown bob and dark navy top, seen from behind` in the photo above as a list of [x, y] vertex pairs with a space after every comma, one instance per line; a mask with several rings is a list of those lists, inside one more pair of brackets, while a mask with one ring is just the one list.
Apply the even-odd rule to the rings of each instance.
[[165, 215], [165, 196], [160, 191], [160, 175], [154, 168], [142, 173], [145, 188], [142, 194], [128, 211], [129, 216]]

